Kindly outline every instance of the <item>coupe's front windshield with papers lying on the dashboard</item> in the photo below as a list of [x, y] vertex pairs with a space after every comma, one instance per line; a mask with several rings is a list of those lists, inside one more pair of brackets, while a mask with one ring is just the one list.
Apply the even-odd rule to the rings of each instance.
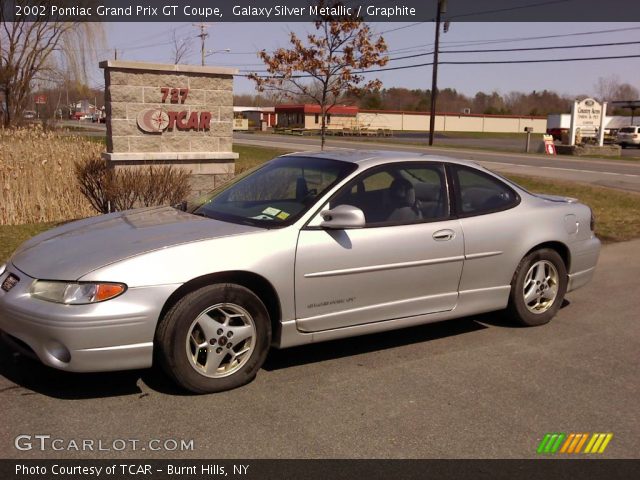
[[355, 169], [326, 158], [279, 157], [214, 192], [193, 213], [265, 228], [290, 225]]

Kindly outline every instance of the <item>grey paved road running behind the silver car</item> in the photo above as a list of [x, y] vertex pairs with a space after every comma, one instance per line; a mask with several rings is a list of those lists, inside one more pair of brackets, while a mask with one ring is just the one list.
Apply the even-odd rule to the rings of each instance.
[[[290, 135], [255, 135], [235, 133], [234, 142], [244, 145], [285, 148], [294, 151], [319, 150], [317, 138], [293, 137]], [[491, 144], [490, 139], [486, 142]], [[640, 192], [640, 161], [599, 160], [571, 158], [566, 156], [545, 157], [509, 152], [491, 152], [470, 149], [422, 147], [372, 143], [357, 140], [327, 140], [329, 148], [370, 148], [377, 150], [401, 150], [454, 158], [475, 160], [483, 166], [501, 173], [534, 175], [539, 177], [579, 181], [592, 185]], [[626, 150], [625, 150], [626, 151]]]

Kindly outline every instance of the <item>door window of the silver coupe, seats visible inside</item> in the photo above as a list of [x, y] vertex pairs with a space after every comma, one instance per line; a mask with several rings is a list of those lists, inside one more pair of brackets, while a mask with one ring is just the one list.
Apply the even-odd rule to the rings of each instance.
[[408, 225], [449, 216], [444, 168], [435, 163], [392, 164], [364, 172], [330, 201], [363, 211], [366, 227]]

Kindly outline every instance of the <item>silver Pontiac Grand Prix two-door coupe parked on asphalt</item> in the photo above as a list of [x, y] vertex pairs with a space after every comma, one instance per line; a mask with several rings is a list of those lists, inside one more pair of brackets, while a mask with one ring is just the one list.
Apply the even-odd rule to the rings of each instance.
[[158, 363], [187, 390], [227, 390], [270, 347], [496, 310], [547, 323], [593, 276], [593, 222], [470, 162], [285, 155], [188, 213], [113, 213], [25, 242], [0, 267], [0, 330], [51, 367]]

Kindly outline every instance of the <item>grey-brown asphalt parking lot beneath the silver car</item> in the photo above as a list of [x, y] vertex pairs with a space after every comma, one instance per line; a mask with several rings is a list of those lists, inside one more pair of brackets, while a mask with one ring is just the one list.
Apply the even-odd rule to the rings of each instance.
[[[606, 246], [594, 281], [544, 327], [490, 314], [274, 351], [255, 381], [216, 395], [153, 370], [58, 372], [0, 347], [0, 457], [532, 458], [547, 432], [611, 432], [598, 457], [637, 458], [638, 258], [638, 240]], [[194, 449], [14, 447], [42, 434]]]

